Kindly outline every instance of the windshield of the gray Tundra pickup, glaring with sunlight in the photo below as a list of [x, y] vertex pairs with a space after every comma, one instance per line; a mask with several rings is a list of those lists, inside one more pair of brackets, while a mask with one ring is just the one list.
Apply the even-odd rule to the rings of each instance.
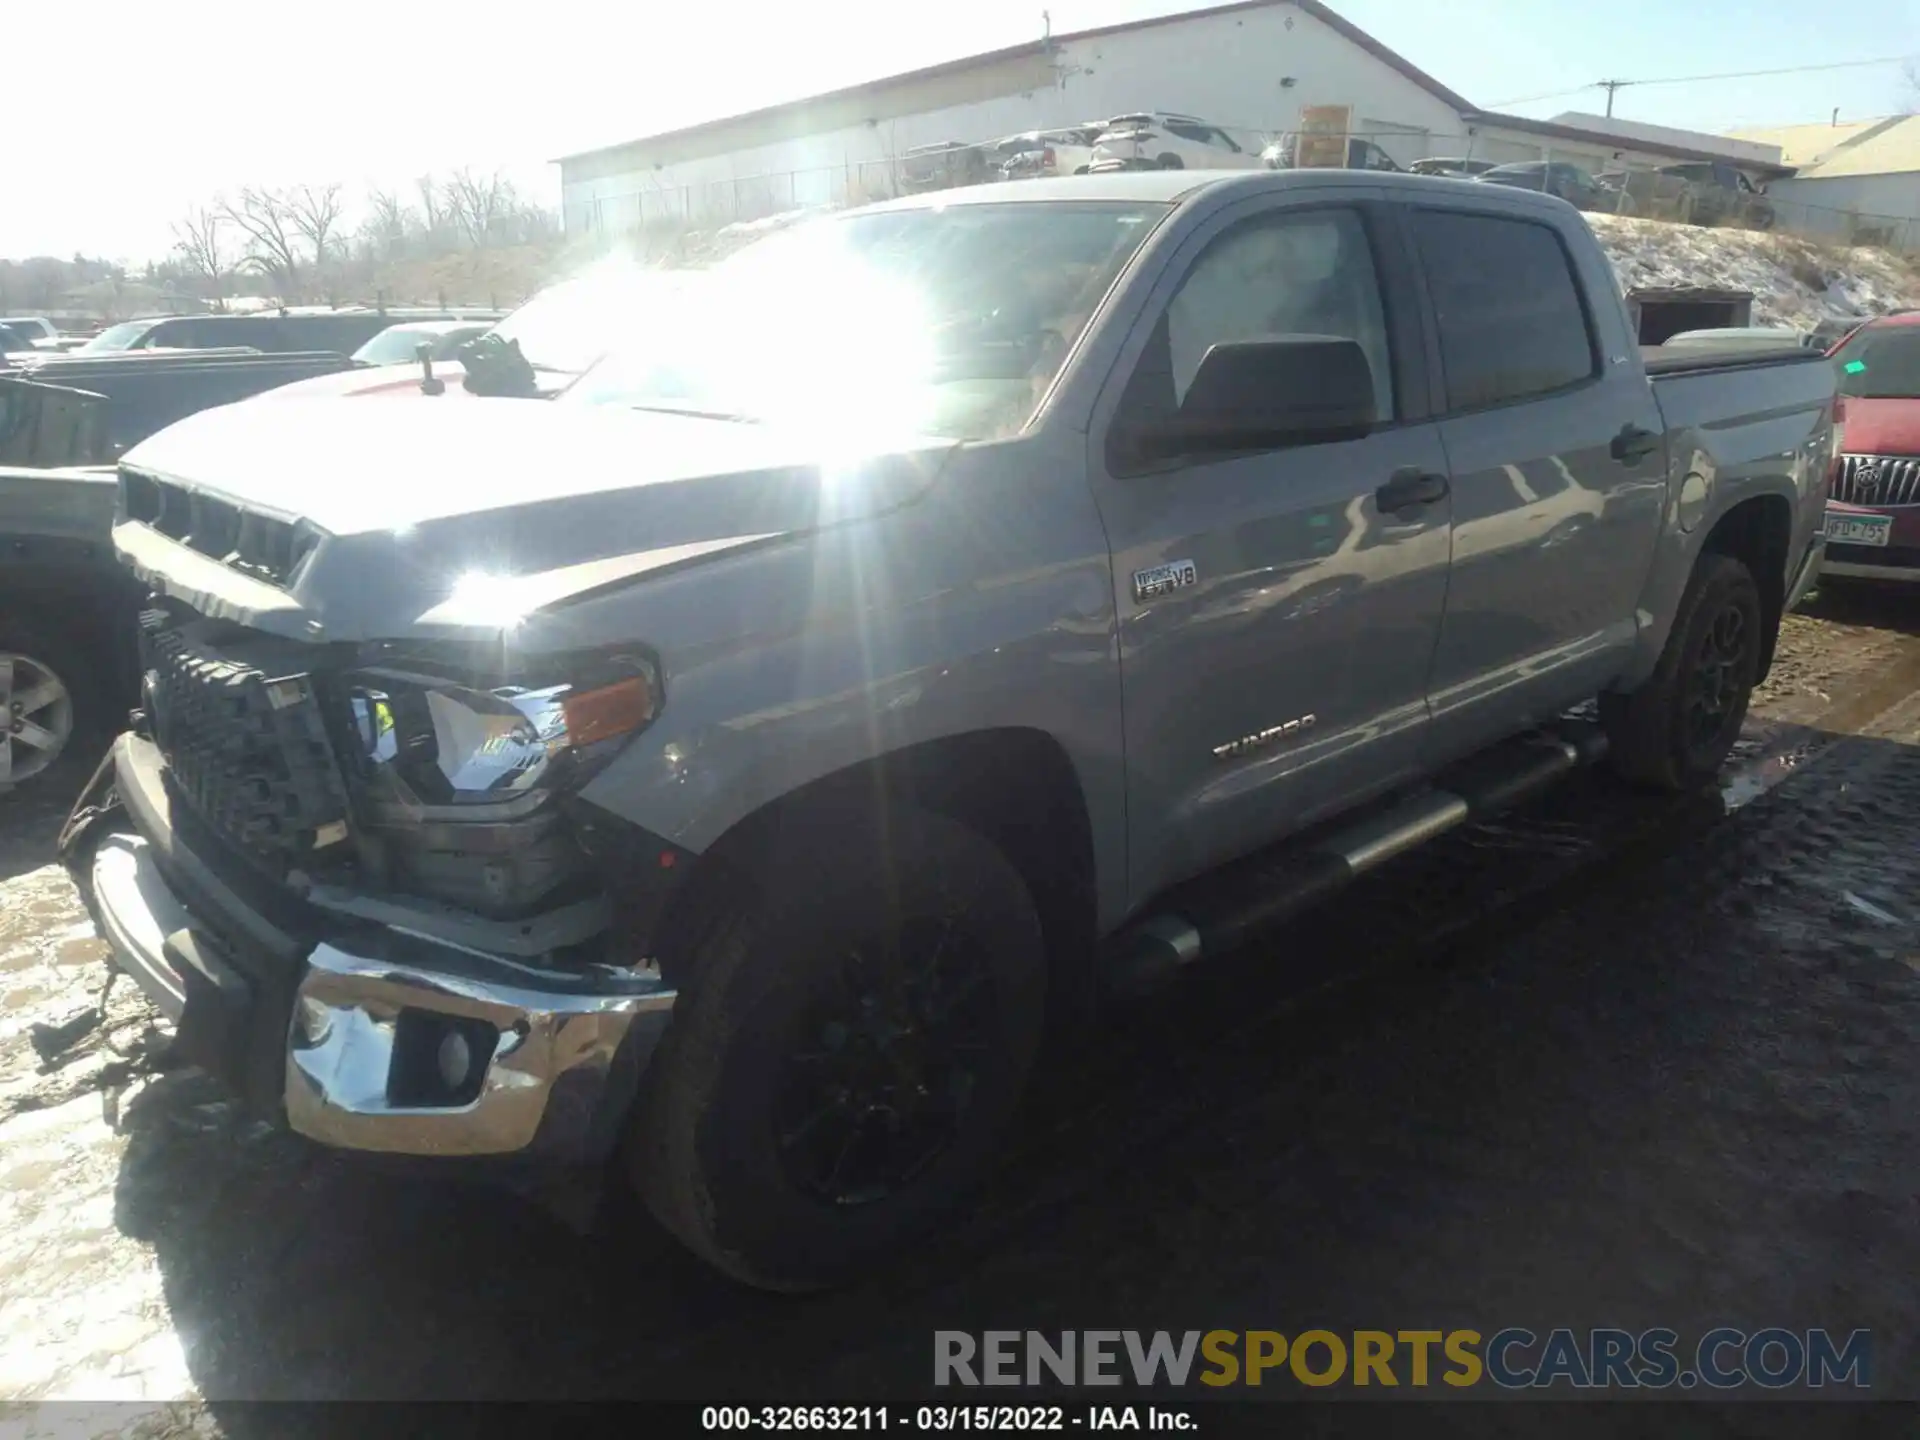
[[566, 399], [991, 440], [1033, 415], [1164, 205], [985, 204], [751, 246]]

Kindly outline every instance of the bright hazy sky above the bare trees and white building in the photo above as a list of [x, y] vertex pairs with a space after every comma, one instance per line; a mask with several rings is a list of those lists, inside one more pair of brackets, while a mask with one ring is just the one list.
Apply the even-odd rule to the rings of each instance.
[[[1478, 106], [1655, 79], [1920, 52], [1920, 0], [1331, 0]], [[468, 163], [557, 198], [553, 156], [977, 50], [1190, 10], [1177, 0], [616, 0], [411, 4], [88, 0], [8, 8], [0, 255], [163, 253], [190, 204], [246, 182], [403, 184]], [[75, 27], [84, 13], [84, 46]], [[1834, 17], [1834, 23], [1822, 23]], [[33, 63], [35, 56], [52, 58]], [[21, 60], [29, 63], [19, 63]], [[71, 69], [79, 58], [81, 73]], [[56, 63], [58, 61], [58, 63]], [[474, 84], [490, 86], [476, 94]], [[100, 102], [106, 98], [106, 104]], [[121, 100], [123, 98], [123, 100]], [[1884, 115], [1899, 63], [1622, 90], [1615, 113], [1690, 129]], [[1509, 106], [1599, 111], [1574, 92]]]

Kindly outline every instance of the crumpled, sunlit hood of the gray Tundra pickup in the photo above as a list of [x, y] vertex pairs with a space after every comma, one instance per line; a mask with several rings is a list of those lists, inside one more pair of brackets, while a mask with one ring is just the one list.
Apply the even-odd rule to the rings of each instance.
[[505, 612], [910, 503], [954, 449], [822, 461], [793, 432], [586, 403], [253, 399], [190, 415], [121, 465], [317, 530], [292, 586], [144, 524], [115, 543], [156, 588], [278, 634], [497, 630]]

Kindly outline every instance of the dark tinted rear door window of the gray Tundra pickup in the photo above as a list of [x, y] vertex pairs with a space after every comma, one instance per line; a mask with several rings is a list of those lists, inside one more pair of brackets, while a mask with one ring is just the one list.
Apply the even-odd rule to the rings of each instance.
[[1415, 209], [1450, 411], [1544, 396], [1599, 374], [1572, 259], [1546, 225]]

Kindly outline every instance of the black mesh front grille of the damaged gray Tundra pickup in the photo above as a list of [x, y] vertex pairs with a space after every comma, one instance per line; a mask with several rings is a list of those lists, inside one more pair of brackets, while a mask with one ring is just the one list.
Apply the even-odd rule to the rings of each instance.
[[344, 839], [346, 785], [307, 676], [225, 659], [165, 611], [140, 616], [140, 647], [173, 789], [217, 835], [275, 874]]

